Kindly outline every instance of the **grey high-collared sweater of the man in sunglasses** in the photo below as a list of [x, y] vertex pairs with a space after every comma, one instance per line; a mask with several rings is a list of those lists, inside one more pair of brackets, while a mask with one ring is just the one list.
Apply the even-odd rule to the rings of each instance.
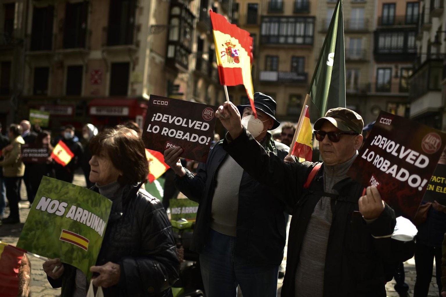
[[[356, 159], [355, 155], [345, 163], [327, 165], [324, 163], [324, 192], [338, 194], [333, 186], [347, 178], [347, 171]], [[299, 264], [296, 270], [295, 297], [322, 297], [324, 289], [325, 256], [330, 233], [332, 212], [330, 197], [322, 197], [311, 214], [303, 238]]]

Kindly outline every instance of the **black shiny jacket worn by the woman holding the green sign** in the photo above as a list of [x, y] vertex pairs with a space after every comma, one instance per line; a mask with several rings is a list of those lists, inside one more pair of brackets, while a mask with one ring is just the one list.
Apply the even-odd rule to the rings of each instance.
[[[99, 192], [96, 187], [92, 188]], [[112, 205], [96, 265], [120, 265], [118, 284], [104, 289], [105, 297], [169, 297], [178, 279], [179, 262], [172, 227], [161, 202], [139, 186], [128, 185], [122, 196], [122, 213]], [[118, 211], [116, 211], [118, 210]], [[64, 264], [62, 297], [73, 296], [76, 268]], [[88, 289], [88, 287], [87, 287]]]

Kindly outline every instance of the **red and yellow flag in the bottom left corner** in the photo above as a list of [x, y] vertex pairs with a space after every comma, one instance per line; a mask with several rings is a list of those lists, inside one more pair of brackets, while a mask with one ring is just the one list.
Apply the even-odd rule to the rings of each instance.
[[0, 242], [0, 296], [17, 296], [19, 292], [18, 274], [24, 253], [25, 251]]

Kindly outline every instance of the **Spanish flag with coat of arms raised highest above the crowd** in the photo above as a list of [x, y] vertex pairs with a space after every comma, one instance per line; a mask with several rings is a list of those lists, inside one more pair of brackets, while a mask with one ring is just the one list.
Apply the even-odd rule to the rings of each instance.
[[212, 10], [210, 14], [220, 84], [226, 86], [243, 84], [252, 110], [256, 114], [251, 76], [252, 37], [249, 36], [248, 31], [230, 24], [221, 14], [214, 13]]

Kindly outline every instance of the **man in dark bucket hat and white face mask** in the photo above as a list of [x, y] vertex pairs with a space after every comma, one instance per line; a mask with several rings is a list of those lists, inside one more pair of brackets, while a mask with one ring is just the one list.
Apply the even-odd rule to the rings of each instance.
[[[268, 133], [280, 124], [276, 101], [257, 92], [254, 105], [257, 118], [246, 104], [237, 106], [239, 120], [265, 151], [284, 159], [289, 147]], [[196, 176], [181, 166], [181, 148], [164, 153], [177, 188], [199, 203], [191, 248], [200, 254], [206, 296], [236, 297], [240, 284], [244, 297], [275, 297], [286, 239], [285, 204], [271, 198], [274, 189], [244, 172], [222, 142], [200, 163]]]

